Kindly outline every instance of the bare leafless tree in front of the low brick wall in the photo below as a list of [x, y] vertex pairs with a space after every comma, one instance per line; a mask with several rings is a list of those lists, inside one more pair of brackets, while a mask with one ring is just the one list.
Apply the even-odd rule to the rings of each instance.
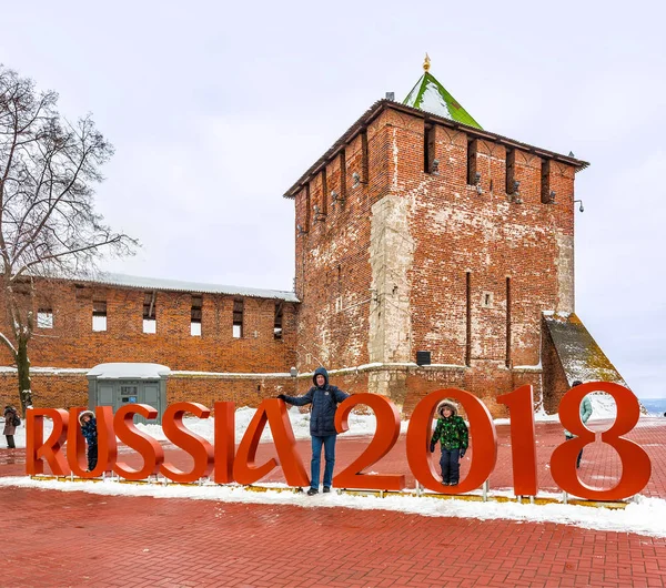
[[39, 283], [90, 274], [103, 252], [131, 254], [138, 245], [94, 212], [100, 168], [113, 154], [90, 115], [72, 124], [58, 94], [0, 65], [0, 280], [8, 330], [0, 341], [13, 355], [23, 410], [31, 403], [28, 344]]

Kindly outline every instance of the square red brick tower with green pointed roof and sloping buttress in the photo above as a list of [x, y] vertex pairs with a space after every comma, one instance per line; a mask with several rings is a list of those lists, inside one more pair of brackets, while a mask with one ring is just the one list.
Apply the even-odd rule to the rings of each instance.
[[587, 163], [483, 130], [430, 73], [375, 102], [285, 193], [297, 367], [403, 412], [461, 387], [495, 416], [533, 384], [622, 377], [574, 311], [574, 180]]

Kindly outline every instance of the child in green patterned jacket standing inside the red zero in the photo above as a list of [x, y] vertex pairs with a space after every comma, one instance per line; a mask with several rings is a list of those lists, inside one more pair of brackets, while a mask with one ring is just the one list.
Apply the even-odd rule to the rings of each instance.
[[435, 444], [440, 440], [442, 445], [442, 484], [444, 486], [456, 486], [460, 480], [460, 460], [465, 456], [470, 445], [470, 434], [463, 417], [457, 415], [457, 405], [453, 401], [443, 401], [437, 406], [437, 425], [431, 439], [431, 453], [435, 450]]

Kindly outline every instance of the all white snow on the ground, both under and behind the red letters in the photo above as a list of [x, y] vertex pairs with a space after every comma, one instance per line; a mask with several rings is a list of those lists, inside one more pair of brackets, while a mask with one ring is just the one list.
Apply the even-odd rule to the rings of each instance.
[[[606, 394], [593, 394], [592, 419], [615, 417], [615, 402]], [[255, 409], [243, 407], [235, 412], [235, 436], [239, 442], [245, 433]], [[297, 407], [289, 410], [290, 420], [297, 439], [310, 437], [310, 414], [301, 413]], [[537, 422], [558, 422], [557, 415], [546, 415], [543, 410], [535, 414]], [[647, 419], [657, 420], [657, 419]], [[186, 417], [185, 426], [213, 442], [213, 418], [199, 419]], [[496, 425], [507, 424], [508, 419], [495, 419]], [[376, 428], [374, 415], [352, 413], [349, 418], [350, 430], [346, 435], [372, 435]], [[401, 424], [405, 432], [407, 420]], [[152, 437], [167, 440], [159, 425], [137, 425]], [[44, 419], [44, 438], [51, 432], [51, 422]], [[266, 426], [262, 440], [271, 440], [270, 427]], [[17, 447], [26, 446], [24, 423], [14, 436]], [[58, 481], [53, 479], [31, 479], [29, 477], [0, 477], [0, 486], [53, 489], [61, 491], [87, 491], [100, 495], [152, 496], [155, 498], [188, 498], [199, 500], [216, 500], [220, 503], [249, 503], [265, 505], [290, 505], [296, 507], [346, 507], [353, 509], [382, 509], [433, 517], [466, 517], [476, 519], [507, 519], [516, 521], [558, 523], [596, 530], [636, 533], [640, 535], [666, 537], [666, 500], [638, 496], [625, 509], [612, 510], [584, 506], [549, 504], [527, 505], [517, 503], [473, 503], [461, 499], [443, 500], [428, 497], [412, 496], [353, 496], [330, 494], [307, 497], [304, 494], [278, 491], [284, 485], [270, 485], [275, 489], [264, 493], [248, 490], [240, 486], [180, 486], [163, 484], [119, 484], [113, 480], [103, 481]], [[539, 494], [539, 496], [542, 496]], [[562, 495], [554, 495], [562, 496]], [[221, 507], [222, 508], [222, 507]]]

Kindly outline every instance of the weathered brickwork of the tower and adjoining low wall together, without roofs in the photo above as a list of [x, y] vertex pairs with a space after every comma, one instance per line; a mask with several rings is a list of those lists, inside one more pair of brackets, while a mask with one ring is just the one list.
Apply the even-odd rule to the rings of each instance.
[[[234, 339], [234, 297], [204, 294], [202, 336], [192, 337], [190, 293], [159, 292], [158, 332], [148, 335], [142, 291], [62, 283], [52, 293], [54, 328], [32, 341], [33, 365], [154, 362], [254, 374], [252, 384], [220, 381], [224, 393], [203, 377], [169, 384], [173, 398], [229, 394], [252, 404], [310, 385], [262, 374], [323, 364], [360, 367], [334, 383], [387, 395], [406, 414], [427, 392], [455, 386], [504, 416], [496, 396], [523, 383], [554, 410], [566, 382], [542, 336], [542, 312], [574, 311], [574, 166], [417, 113], [377, 112], [294, 194], [301, 303], [284, 305], [282, 341], [273, 338], [272, 300], [244, 298], [244, 336]], [[430, 166], [437, 160], [437, 173], [425, 171], [426, 159]], [[507, 193], [507, 159], [521, 202]], [[481, 193], [470, 183], [476, 172]], [[91, 331], [99, 297], [108, 305], [105, 333]], [[417, 351], [431, 352], [434, 365], [417, 368]]]

